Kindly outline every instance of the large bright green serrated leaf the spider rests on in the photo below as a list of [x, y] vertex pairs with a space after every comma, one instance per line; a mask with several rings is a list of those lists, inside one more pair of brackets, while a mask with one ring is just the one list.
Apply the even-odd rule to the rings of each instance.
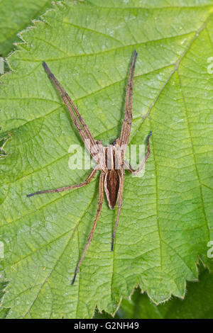
[[[136, 285], [160, 303], [185, 295], [198, 257], [209, 266], [212, 237], [212, 1], [67, 2], [23, 33], [1, 77], [1, 239], [10, 283], [8, 317], [92, 317], [114, 313]], [[189, 19], [190, 18], [190, 19]], [[131, 144], [150, 130], [142, 178], [126, 172], [124, 203], [104, 207], [71, 286], [98, 201], [98, 177], [85, 188], [27, 198], [83, 181], [70, 170], [70, 145], [82, 145], [42, 62], [77, 104], [96, 139], [119, 136], [126, 77], [138, 52]]]

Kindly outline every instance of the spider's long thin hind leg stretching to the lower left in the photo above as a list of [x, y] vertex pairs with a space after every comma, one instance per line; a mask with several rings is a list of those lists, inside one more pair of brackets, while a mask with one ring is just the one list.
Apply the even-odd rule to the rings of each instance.
[[94, 223], [93, 223], [93, 226], [92, 226], [92, 230], [89, 234], [89, 237], [87, 239], [87, 244], [86, 246], [84, 247], [84, 252], [82, 253], [82, 256], [80, 258], [80, 261], [78, 262], [77, 264], [77, 267], [75, 269], [75, 274], [74, 274], [74, 277], [72, 278], [72, 285], [75, 283], [75, 278], [77, 276], [77, 272], [79, 271], [80, 269], [80, 265], [82, 263], [82, 260], [84, 259], [84, 256], [87, 252], [87, 249], [89, 247], [89, 244], [90, 242], [92, 241], [92, 237], [94, 235], [94, 230], [95, 230], [95, 227], [97, 226], [97, 221], [99, 219], [99, 215], [101, 213], [101, 210], [102, 210], [102, 203], [103, 203], [103, 200], [104, 200], [104, 173], [102, 173], [100, 175], [100, 179], [99, 179], [99, 204], [98, 204], [98, 208], [97, 208], [97, 214], [96, 214], [96, 218], [94, 220]]

